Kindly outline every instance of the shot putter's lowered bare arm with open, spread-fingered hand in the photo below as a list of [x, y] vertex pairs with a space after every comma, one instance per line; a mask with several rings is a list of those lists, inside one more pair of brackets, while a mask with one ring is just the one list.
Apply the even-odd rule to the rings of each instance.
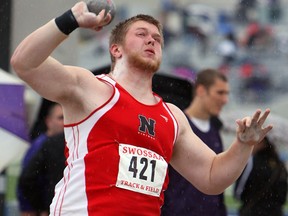
[[229, 149], [216, 155], [198, 138], [183, 112], [169, 105], [179, 124], [171, 165], [195, 187], [206, 194], [222, 193], [242, 173], [253, 146], [272, 129], [262, 128], [269, 110], [260, 117], [258, 110], [251, 117], [238, 120], [237, 136]]

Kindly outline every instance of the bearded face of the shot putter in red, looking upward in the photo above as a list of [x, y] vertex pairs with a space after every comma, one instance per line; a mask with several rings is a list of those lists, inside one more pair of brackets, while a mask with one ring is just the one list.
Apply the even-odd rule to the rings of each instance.
[[123, 45], [129, 65], [156, 72], [162, 59], [162, 38], [156, 26], [137, 21], [133, 23]]

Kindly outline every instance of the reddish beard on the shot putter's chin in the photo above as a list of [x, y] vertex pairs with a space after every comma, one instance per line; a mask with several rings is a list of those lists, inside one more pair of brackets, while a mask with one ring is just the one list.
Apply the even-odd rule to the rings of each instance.
[[131, 53], [128, 56], [128, 63], [136, 68], [144, 71], [150, 71], [152, 73], [155, 73], [160, 67], [159, 59], [145, 59], [137, 53]]

